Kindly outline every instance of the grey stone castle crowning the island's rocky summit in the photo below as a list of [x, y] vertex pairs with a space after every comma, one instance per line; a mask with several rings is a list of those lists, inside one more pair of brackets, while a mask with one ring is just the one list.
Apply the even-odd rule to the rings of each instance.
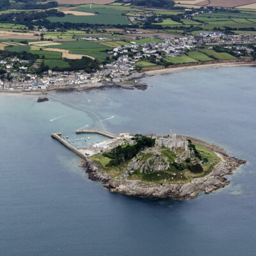
[[177, 135], [170, 130], [168, 138], [156, 138], [156, 146], [172, 148], [182, 148], [188, 150], [188, 141], [182, 136], [181, 139], [177, 139]]

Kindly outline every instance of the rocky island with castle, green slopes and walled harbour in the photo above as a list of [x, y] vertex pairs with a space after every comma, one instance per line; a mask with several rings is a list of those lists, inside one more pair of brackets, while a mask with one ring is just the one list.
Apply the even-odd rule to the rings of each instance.
[[86, 148], [75, 148], [74, 141], [61, 133], [52, 134], [63, 145], [83, 158], [89, 179], [102, 182], [111, 193], [129, 196], [174, 199], [196, 198], [200, 191], [211, 193], [227, 186], [225, 175], [232, 174], [246, 161], [196, 138], [122, 133], [119, 136], [97, 130], [110, 139]]

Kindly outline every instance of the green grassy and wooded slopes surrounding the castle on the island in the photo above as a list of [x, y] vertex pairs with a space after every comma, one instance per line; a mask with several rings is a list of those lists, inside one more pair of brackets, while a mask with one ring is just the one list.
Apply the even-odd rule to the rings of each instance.
[[[186, 183], [211, 173], [220, 161], [214, 152], [195, 145], [190, 140], [189, 154], [185, 154], [181, 149], [158, 148], [154, 146], [152, 139], [148, 138], [146, 143], [145, 137], [138, 138], [136, 138], [138, 143], [141, 141], [139, 145], [135, 143], [132, 146], [119, 146], [89, 158], [99, 164], [100, 170], [109, 173], [113, 179], [118, 180], [125, 173], [127, 180], [141, 180], [146, 184], [147, 182]], [[131, 166], [138, 168], [133, 169]], [[159, 169], [159, 166], [163, 168]]]

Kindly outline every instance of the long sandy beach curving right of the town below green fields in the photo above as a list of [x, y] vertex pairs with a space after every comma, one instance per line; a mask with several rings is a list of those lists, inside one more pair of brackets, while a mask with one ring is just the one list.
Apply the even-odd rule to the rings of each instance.
[[169, 74], [172, 72], [179, 72], [179, 71], [186, 71], [186, 70], [196, 70], [196, 69], [202, 69], [202, 68], [220, 68], [220, 67], [241, 67], [241, 66], [256, 66], [256, 62], [252, 63], [214, 63], [214, 64], [203, 64], [203, 65], [192, 65], [192, 66], [184, 66], [184, 67], [170, 67], [170, 68], [164, 68], [164, 69], [157, 69], [157, 70], [148, 70], [143, 72], [147, 76], [156, 76], [156, 75], [162, 75], [162, 74]]

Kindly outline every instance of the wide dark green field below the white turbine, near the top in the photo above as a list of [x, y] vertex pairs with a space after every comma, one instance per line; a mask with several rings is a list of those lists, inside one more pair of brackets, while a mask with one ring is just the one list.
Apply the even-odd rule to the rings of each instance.
[[71, 22], [104, 25], [127, 25], [131, 23], [125, 16], [106, 14], [97, 14], [95, 16], [65, 15], [65, 17], [49, 17], [47, 19], [51, 22]]

